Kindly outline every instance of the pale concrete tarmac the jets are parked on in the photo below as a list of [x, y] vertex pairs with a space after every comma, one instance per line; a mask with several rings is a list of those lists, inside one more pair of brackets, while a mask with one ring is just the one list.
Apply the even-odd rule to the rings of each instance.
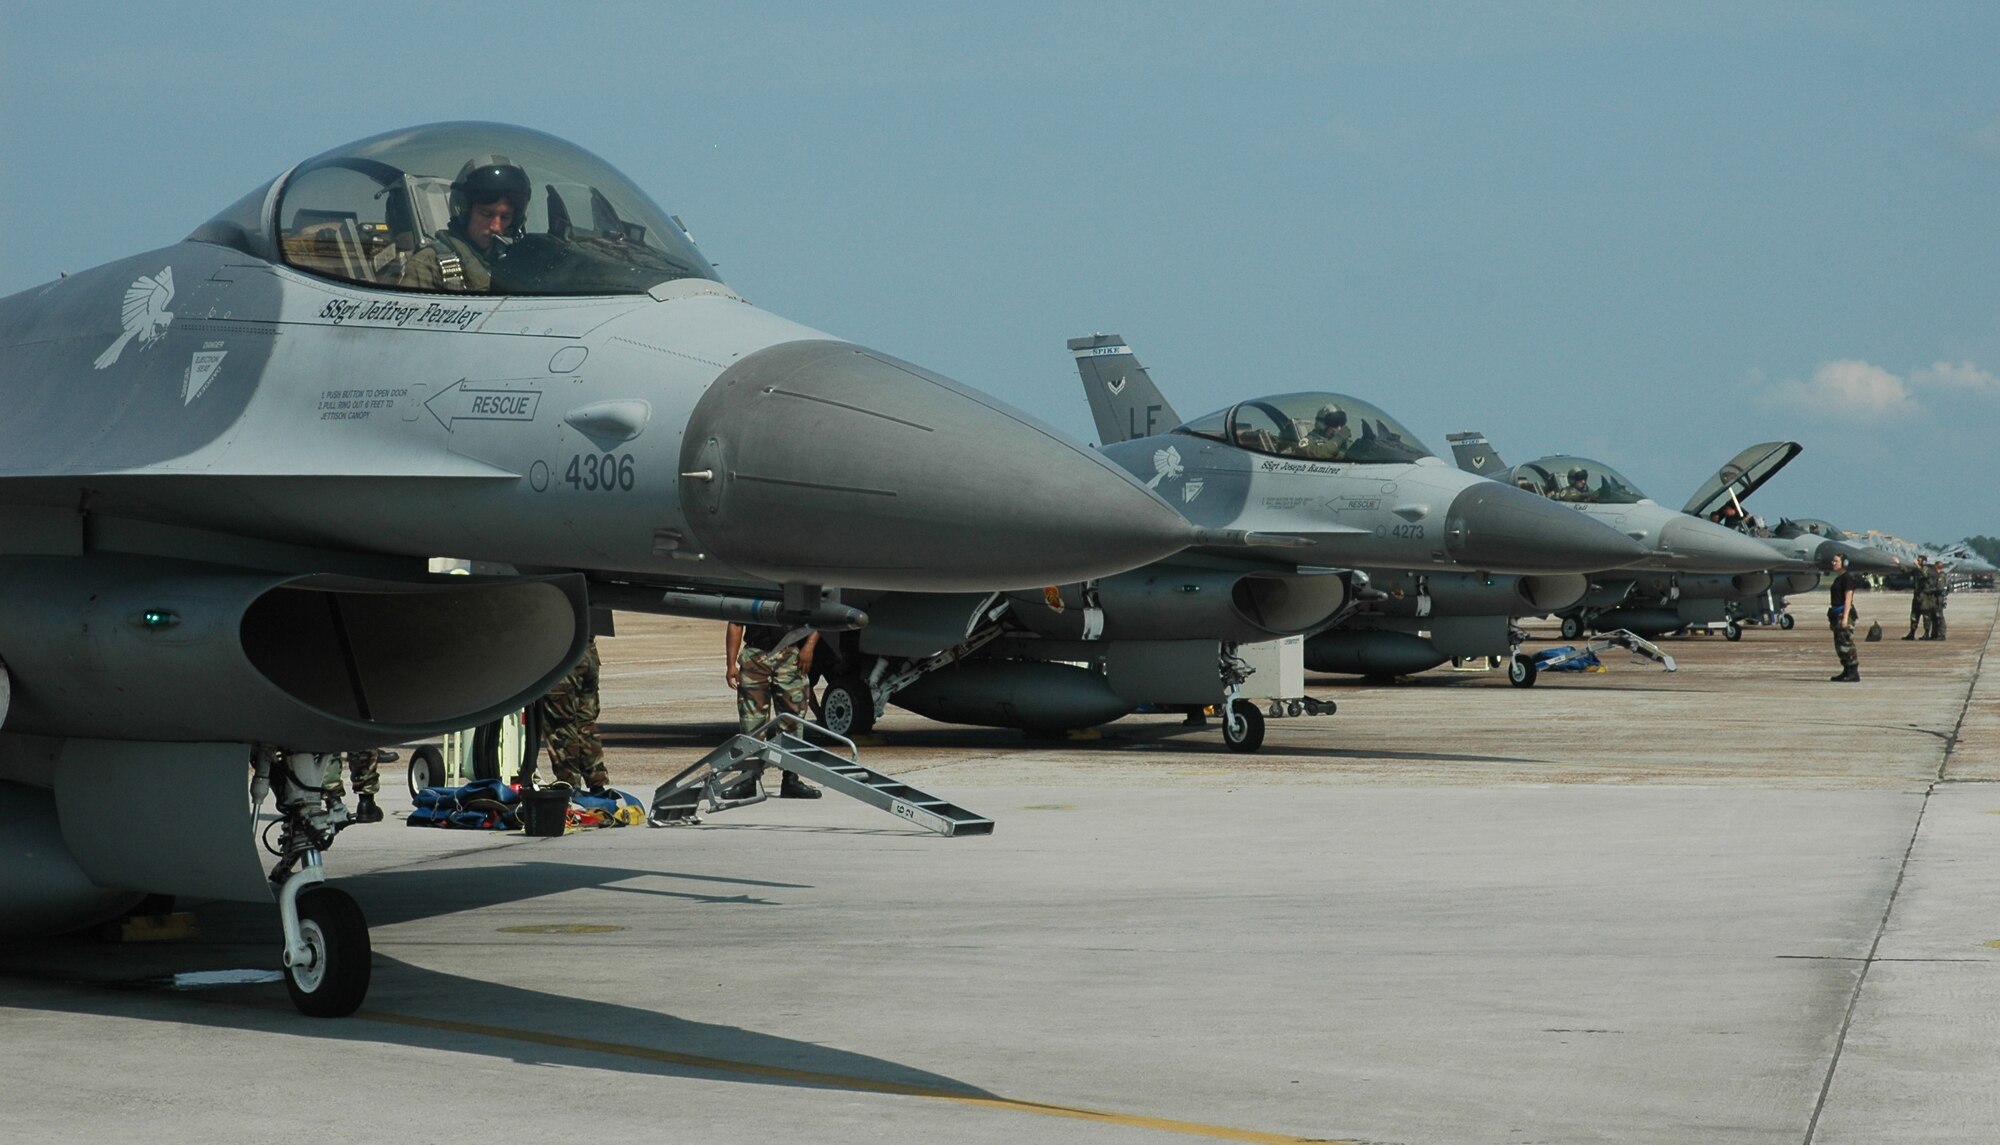
[[[0, 1141], [1990, 1141], [1994, 595], [1838, 671], [1798, 629], [1680, 671], [1310, 679], [1258, 755], [1128, 717], [1040, 743], [892, 711], [872, 767], [996, 819], [838, 797], [330, 857], [366, 1009], [300, 1017], [274, 907], [0, 947]], [[716, 625], [602, 641], [612, 779], [734, 725]], [[1538, 645], [1536, 645], [1538, 647]]]

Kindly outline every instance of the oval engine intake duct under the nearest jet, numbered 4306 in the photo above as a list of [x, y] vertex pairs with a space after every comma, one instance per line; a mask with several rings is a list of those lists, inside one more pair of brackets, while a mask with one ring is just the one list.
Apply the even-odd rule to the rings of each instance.
[[372, 581], [150, 556], [0, 558], [8, 731], [350, 751], [544, 695], [582, 577]]

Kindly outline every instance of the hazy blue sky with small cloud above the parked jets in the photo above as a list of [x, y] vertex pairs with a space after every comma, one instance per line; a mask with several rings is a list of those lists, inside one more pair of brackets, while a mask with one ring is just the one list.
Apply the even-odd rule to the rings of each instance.
[[2000, 4], [0, 0], [0, 294], [330, 146], [518, 122], [760, 306], [1090, 438], [1332, 388], [1678, 506], [2000, 532]]

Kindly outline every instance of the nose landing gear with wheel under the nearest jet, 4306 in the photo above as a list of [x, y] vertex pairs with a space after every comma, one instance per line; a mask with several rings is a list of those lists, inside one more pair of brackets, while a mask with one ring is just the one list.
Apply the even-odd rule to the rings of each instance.
[[344, 803], [324, 803], [324, 755], [258, 749], [256, 787], [278, 797], [278, 855], [270, 885], [284, 925], [284, 987], [310, 1017], [346, 1017], [368, 995], [368, 919], [346, 891], [326, 885], [322, 853], [352, 823]]

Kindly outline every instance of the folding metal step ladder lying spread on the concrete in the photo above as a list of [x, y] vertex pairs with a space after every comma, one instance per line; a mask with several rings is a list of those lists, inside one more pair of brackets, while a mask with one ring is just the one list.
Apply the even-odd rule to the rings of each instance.
[[[810, 737], [842, 743], [848, 755], [820, 747]], [[828, 791], [880, 807], [924, 831], [938, 835], [994, 833], [992, 819], [862, 767], [854, 741], [790, 713], [780, 713], [754, 733], [732, 735], [722, 747], [662, 783], [652, 793], [652, 813], [646, 821], [654, 827], [678, 827], [700, 823], [704, 803], [710, 813], [762, 803], [770, 799], [764, 789], [764, 769], [768, 767], [818, 781]]]

